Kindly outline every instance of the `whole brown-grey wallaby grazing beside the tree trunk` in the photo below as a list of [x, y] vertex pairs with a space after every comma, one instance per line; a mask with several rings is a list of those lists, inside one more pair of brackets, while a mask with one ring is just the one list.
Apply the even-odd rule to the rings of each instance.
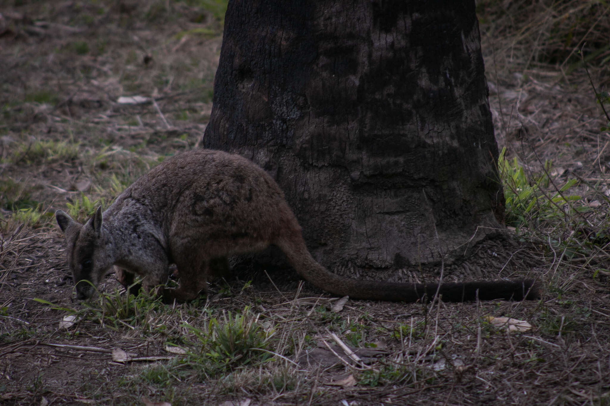
[[[194, 299], [207, 292], [215, 261], [270, 244], [284, 251], [303, 278], [334, 295], [415, 302], [429, 300], [439, 287], [329, 272], [307, 250], [301, 227], [270, 175], [242, 156], [221, 151], [199, 149], [166, 159], [84, 225], [61, 210], [55, 215], [66, 236], [66, 260], [78, 299], [91, 296], [113, 265], [126, 287], [135, 274], [166, 303]], [[163, 286], [172, 263], [179, 275], [175, 289]], [[438, 292], [445, 301], [540, 297], [528, 279], [443, 283]]]

